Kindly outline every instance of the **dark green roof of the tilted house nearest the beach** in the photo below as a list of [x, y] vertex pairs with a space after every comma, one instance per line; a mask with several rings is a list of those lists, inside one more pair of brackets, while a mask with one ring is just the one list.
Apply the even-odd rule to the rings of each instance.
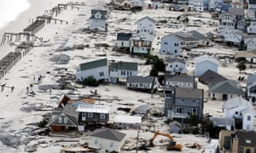
[[97, 59], [90, 62], [85, 62], [79, 65], [81, 71], [94, 69], [96, 67], [102, 67], [108, 65], [108, 59]]

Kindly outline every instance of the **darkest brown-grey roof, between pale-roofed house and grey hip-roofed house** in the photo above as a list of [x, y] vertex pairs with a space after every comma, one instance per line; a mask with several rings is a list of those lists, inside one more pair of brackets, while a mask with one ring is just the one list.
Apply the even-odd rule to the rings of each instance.
[[207, 70], [201, 77], [198, 78], [200, 82], [205, 84], [215, 84], [217, 82], [224, 82], [227, 78], [221, 76], [220, 74], [216, 73], [212, 70]]

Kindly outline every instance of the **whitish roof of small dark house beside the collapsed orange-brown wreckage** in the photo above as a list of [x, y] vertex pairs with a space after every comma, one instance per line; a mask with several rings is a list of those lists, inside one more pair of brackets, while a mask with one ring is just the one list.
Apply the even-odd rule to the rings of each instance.
[[92, 107], [89, 107], [88, 105], [79, 105], [76, 111], [90, 112], [90, 113], [104, 113], [104, 114], [109, 113], [109, 109], [106, 107], [102, 107], [101, 105], [93, 105]]

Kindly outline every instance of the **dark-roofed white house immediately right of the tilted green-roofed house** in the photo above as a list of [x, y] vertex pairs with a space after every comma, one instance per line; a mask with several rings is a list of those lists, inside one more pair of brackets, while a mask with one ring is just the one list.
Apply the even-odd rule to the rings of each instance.
[[113, 62], [110, 64], [109, 76], [111, 82], [118, 82], [119, 79], [126, 79], [130, 76], [137, 76], [136, 62]]

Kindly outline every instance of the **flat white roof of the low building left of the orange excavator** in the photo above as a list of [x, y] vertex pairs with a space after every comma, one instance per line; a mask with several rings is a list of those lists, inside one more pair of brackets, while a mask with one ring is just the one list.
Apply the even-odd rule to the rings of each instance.
[[121, 123], [142, 123], [142, 116], [123, 116], [118, 115], [114, 117], [114, 122], [121, 122]]

